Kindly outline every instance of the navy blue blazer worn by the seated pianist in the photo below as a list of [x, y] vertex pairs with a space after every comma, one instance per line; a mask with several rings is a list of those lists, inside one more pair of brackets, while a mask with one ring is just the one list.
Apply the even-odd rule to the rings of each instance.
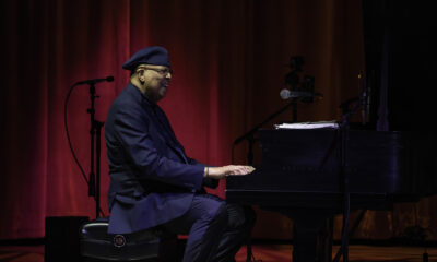
[[203, 190], [204, 165], [187, 157], [164, 111], [131, 83], [110, 106], [105, 140], [108, 233], [130, 234], [176, 218]]

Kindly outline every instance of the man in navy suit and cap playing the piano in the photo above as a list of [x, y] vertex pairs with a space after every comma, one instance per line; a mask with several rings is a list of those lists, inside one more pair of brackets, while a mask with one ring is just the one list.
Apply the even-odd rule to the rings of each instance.
[[161, 226], [188, 235], [184, 262], [235, 261], [255, 224], [250, 207], [208, 194], [218, 179], [253, 171], [251, 166], [209, 167], [189, 158], [156, 104], [172, 79], [168, 53], [147, 47], [123, 66], [130, 82], [106, 120], [110, 234]]

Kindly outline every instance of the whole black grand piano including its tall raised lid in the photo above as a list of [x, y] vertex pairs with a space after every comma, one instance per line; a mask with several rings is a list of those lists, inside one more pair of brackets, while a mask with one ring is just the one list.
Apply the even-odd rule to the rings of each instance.
[[437, 192], [436, 98], [429, 95], [436, 83], [434, 16], [423, 3], [363, 1], [370, 128], [351, 124], [344, 166], [338, 130], [264, 129], [257, 132], [262, 158], [257, 170], [227, 179], [227, 201], [293, 219], [297, 261], [315, 261], [323, 221], [343, 213], [344, 177], [350, 211], [386, 210]]

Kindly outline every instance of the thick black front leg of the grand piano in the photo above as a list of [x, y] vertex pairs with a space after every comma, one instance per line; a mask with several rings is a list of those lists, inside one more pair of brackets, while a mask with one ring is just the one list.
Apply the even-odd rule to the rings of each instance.
[[331, 214], [322, 214], [320, 210], [293, 211], [286, 214], [295, 225], [293, 236], [293, 262], [318, 261], [317, 239], [320, 229], [326, 225]]

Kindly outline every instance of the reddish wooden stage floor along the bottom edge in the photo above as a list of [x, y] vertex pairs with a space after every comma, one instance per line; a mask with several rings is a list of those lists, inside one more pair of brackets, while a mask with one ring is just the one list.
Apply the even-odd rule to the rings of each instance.
[[[338, 246], [333, 248], [335, 254]], [[291, 262], [291, 245], [253, 245], [252, 252], [257, 262]], [[427, 249], [429, 260], [437, 261], [437, 247]], [[416, 247], [370, 247], [350, 246], [350, 261], [353, 262], [422, 262], [423, 248]], [[236, 257], [237, 262], [246, 262], [246, 248]], [[0, 246], [0, 262], [44, 262], [44, 247]]]

